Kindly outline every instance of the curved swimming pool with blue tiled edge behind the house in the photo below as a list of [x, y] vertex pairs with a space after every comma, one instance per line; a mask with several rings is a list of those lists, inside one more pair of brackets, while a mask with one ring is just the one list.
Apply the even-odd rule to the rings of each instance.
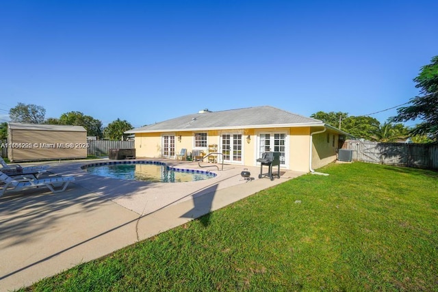
[[159, 161], [109, 161], [90, 163], [81, 168], [98, 176], [154, 183], [203, 181], [216, 176], [214, 172], [172, 168]]

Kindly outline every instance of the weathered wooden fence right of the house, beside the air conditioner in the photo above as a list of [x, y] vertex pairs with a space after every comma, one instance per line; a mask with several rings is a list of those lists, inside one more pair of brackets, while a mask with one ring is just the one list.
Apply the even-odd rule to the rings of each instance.
[[343, 149], [352, 151], [352, 159], [370, 163], [438, 169], [437, 144], [383, 143], [346, 140]]

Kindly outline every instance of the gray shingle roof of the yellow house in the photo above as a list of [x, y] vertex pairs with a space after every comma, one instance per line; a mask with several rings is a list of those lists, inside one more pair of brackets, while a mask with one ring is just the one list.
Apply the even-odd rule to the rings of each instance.
[[320, 120], [292, 114], [276, 107], [247, 107], [227, 111], [207, 111], [172, 118], [156, 124], [132, 129], [125, 133], [159, 131], [199, 131], [214, 129], [248, 129], [268, 127], [324, 126]]

